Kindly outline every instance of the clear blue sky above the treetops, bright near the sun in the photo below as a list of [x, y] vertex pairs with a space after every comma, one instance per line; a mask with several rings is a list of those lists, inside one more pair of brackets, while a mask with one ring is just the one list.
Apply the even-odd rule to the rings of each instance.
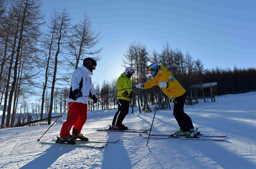
[[45, 0], [49, 17], [53, 8], [67, 7], [73, 23], [86, 11], [93, 29], [101, 31], [102, 60], [93, 81], [111, 81], [123, 72], [122, 57], [128, 45], [140, 41], [148, 50], [160, 51], [166, 42], [204, 68], [255, 67], [255, 0]]

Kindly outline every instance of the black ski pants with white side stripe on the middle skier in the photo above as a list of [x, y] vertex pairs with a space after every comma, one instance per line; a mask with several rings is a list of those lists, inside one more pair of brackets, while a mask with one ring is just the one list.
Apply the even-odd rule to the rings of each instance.
[[118, 111], [116, 112], [116, 115], [114, 116], [112, 125], [122, 124], [122, 121], [124, 120], [125, 116], [129, 112], [130, 101], [118, 99], [117, 102], [118, 102]]

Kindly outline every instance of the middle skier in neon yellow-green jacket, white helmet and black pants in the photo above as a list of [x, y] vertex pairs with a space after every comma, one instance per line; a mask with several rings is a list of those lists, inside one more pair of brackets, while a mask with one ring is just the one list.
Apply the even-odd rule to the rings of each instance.
[[128, 127], [125, 127], [125, 125], [122, 124], [122, 121], [129, 112], [129, 101], [133, 97], [131, 81], [131, 76], [133, 75], [133, 73], [135, 73], [135, 70], [131, 67], [128, 67], [125, 69], [125, 72], [122, 73], [121, 76], [117, 79], [116, 88], [117, 90], [119, 90], [117, 92], [118, 111], [113, 118], [111, 127], [112, 130], [128, 129]]

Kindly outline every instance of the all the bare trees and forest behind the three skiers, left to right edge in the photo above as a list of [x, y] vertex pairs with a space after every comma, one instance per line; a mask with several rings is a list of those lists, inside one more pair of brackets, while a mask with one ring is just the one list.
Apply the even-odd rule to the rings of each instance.
[[[86, 12], [83, 20], [73, 24], [66, 8], [53, 9], [45, 20], [41, 7], [41, 0], [0, 0], [1, 128], [46, 118], [38, 121], [39, 125], [50, 124], [52, 113], [62, 113], [67, 108], [73, 70], [85, 57], [93, 57], [97, 62], [102, 58], [102, 47], [97, 48], [102, 37], [92, 28]], [[122, 65], [136, 70], [132, 77], [134, 86], [151, 79], [145, 70], [150, 63], [166, 67], [186, 89], [188, 100], [196, 97], [194, 85], [207, 82], [218, 83], [216, 95], [256, 91], [255, 67], [207, 69], [200, 59], [194, 60], [188, 51], [171, 48], [168, 42], [161, 51], [148, 49], [139, 41], [131, 42]], [[90, 110], [117, 108], [116, 80], [93, 84], [97, 97], [104, 98]], [[29, 102], [31, 96], [40, 99]], [[159, 87], [134, 88], [131, 106], [148, 107], [157, 102], [167, 107], [170, 103]], [[88, 107], [91, 105], [89, 100]]]

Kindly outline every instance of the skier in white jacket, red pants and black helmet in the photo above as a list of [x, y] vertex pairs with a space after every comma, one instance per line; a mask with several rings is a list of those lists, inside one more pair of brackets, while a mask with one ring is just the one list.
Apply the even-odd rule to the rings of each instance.
[[[82, 141], [88, 141], [88, 138], [81, 134], [82, 127], [87, 120], [87, 101], [89, 96], [93, 103], [97, 103], [92, 87], [91, 75], [97, 67], [97, 63], [92, 58], [85, 58], [83, 66], [74, 71], [71, 79], [70, 94], [68, 98], [70, 116], [64, 122], [61, 128], [60, 138], [57, 139], [59, 144], [75, 144], [77, 138]], [[84, 95], [84, 97], [83, 97]], [[72, 135], [70, 130], [73, 127]]]

